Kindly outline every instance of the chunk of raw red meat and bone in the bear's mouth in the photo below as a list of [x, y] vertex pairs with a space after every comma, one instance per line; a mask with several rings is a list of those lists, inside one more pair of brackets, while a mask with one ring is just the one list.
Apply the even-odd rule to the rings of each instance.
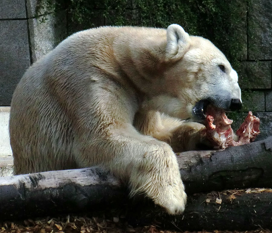
[[224, 110], [209, 105], [206, 115], [206, 138], [215, 149], [250, 143], [260, 133], [260, 119], [253, 116], [252, 112], [248, 113], [236, 134], [231, 127], [233, 121], [228, 119]]

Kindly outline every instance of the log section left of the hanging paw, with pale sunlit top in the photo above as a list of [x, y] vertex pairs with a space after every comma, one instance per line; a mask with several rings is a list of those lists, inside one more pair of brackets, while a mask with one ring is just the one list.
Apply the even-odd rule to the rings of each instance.
[[126, 199], [125, 185], [97, 167], [0, 178], [0, 219], [86, 211]]

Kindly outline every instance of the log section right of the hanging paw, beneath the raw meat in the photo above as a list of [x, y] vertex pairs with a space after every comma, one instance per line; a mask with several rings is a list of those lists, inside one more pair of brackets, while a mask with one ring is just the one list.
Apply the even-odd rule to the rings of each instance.
[[187, 193], [244, 187], [272, 187], [272, 136], [218, 151], [177, 156]]

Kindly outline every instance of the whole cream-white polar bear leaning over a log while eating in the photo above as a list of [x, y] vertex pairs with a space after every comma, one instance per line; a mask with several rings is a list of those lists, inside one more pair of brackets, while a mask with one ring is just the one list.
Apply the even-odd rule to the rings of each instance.
[[167, 30], [99, 27], [31, 66], [11, 102], [15, 174], [101, 166], [170, 214], [186, 194], [174, 151], [205, 141], [203, 107], [241, 107], [237, 73], [209, 40]]

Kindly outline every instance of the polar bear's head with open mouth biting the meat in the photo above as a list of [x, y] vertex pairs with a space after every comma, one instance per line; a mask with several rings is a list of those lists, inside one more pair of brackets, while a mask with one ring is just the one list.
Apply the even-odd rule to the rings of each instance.
[[155, 109], [181, 119], [201, 120], [208, 104], [226, 111], [242, 106], [238, 76], [225, 55], [207, 39], [177, 24], [167, 28], [161, 74], [164, 93], [150, 99]]

